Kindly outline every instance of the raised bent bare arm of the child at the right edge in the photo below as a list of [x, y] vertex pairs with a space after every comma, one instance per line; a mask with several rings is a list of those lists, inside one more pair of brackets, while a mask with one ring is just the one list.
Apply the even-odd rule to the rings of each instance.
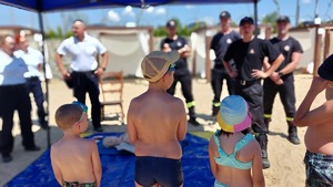
[[319, 93], [325, 90], [329, 82], [322, 77], [313, 77], [311, 87], [301, 103], [295, 116], [294, 125], [309, 126], [317, 125], [333, 120], [333, 104], [332, 101], [326, 102], [322, 106], [310, 111], [310, 107]]

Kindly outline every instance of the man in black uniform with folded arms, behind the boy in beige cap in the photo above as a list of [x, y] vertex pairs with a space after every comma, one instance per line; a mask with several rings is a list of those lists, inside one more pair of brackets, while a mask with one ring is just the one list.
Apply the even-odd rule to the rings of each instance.
[[174, 95], [175, 85], [178, 82], [181, 83], [182, 86], [182, 93], [186, 101], [186, 106], [189, 108], [189, 115], [190, 120], [189, 122], [194, 125], [199, 126], [200, 123], [196, 122], [195, 117], [195, 102], [193, 100], [192, 94], [192, 79], [191, 73], [188, 67], [188, 60], [186, 58], [190, 55], [191, 49], [188, 44], [186, 39], [176, 35], [176, 24], [174, 20], [170, 20], [167, 22], [167, 31], [168, 31], [168, 38], [161, 41], [161, 50], [163, 52], [170, 52], [171, 50], [178, 50], [180, 53], [179, 61], [175, 62], [175, 72], [174, 72], [174, 82], [171, 85], [171, 87], [167, 91], [171, 95]]

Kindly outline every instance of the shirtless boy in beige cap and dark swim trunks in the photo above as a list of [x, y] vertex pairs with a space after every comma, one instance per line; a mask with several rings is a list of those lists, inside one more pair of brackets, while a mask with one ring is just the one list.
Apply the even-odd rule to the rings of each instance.
[[183, 185], [179, 141], [185, 137], [186, 113], [184, 103], [167, 93], [176, 60], [176, 51], [154, 51], [141, 63], [149, 87], [131, 101], [128, 112], [128, 133], [135, 146], [137, 187]]

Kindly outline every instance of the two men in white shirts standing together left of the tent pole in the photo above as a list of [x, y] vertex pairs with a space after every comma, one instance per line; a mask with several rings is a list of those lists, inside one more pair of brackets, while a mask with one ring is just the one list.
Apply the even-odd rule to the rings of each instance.
[[31, 129], [31, 102], [29, 93], [33, 94], [37, 104], [39, 124], [48, 128], [44, 96], [41, 89], [40, 70], [43, 55], [29, 46], [24, 35], [4, 35], [0, 39], [0, 117], [2, 129], [0, 133], [0, 152], [2, 162], [12, 160], [11, 152], [14, 145], [12, 136], [13, 115], [18, 111], [22, 145], [27, 152], [40, 150], [36, 145]]

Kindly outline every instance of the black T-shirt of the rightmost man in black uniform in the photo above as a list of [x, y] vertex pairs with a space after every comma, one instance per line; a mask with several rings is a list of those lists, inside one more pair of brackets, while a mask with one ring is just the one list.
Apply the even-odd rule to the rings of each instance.
[[296, 39], [292, 38], [292, 37], [287, 38], [286, 40], [280, 40], [279, 38], [273, 38], [273, 39], [270, 40], [270, 42], [284, 56], [284, 61], [278, 67], [276, 72], [281, 71], [289, 63], [291, 63], [292, 54], [294, 52], [303, 53], [303, 49], [302, 49], [300, 42]]

